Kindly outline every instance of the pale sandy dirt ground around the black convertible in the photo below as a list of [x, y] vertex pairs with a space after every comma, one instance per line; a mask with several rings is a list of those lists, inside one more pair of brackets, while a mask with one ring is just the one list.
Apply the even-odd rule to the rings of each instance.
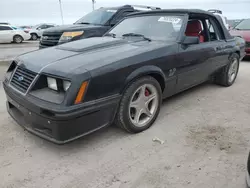
[[165, 100], [141, 134], [109, 127], [63, 146], [17, 126], [1, 89], [0, 187], [244, 188], [249, 83], [250, 61], [232, 87], [204, 84]]

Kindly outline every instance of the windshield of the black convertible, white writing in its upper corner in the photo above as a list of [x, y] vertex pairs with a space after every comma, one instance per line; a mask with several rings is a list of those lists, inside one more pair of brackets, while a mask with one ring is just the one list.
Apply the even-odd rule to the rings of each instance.
[[[143, 35], [151, 40], [175, 41], [183, 23], [183, 16], [158, 15], [127, 18], [113, 28], [108, 35], [113, 37]], [[128, 35], [130, 34], [130, 35]], [[135, 35], [133, 35], [135, 36]]]

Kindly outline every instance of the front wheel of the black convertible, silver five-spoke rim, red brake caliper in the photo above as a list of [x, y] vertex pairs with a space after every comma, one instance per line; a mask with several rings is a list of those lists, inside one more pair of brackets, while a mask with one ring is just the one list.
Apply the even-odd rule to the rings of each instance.
[[[153, 98], [154, 96], [155, 98]], [[138, 101], [141, 100], [140, 98], [144, 99], [144, 101], [139, 105]], [[150, 98], [152, 99], [150, 100]], [[146, 112], [149, 112], [149, 115], [146, 115], [146, 113], [144, 114], [144, 110], [139, 107], [138, 109], [140, 110], [136, 110], [136, 108], [131, 107], [134, 103], [138, 103], [138, 106], [145, 105], [148, 109]], [[130, 133], [142, 132], [151, 127], [156, 120], [160, 112], [161, 103], [162, 90], [158, 81], [151, 76], [139, 78], [130, 83], [125, 90], [118, 107], [115, 124]], [[139, 112], [138, 114], [142, 112], [142, 114], [141, 116], [137, 116], [138, 118], [136, 119], [137, 112]], [[140, 117], [142, 119], [141, 121]], [[143, 118], [145, 119], [145, 122]], [[139, 124], [140, 122], [144, 123]]]

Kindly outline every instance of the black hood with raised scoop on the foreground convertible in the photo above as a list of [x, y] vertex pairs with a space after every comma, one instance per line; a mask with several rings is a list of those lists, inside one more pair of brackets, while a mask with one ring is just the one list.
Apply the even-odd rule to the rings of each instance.
[[[166, 51], [166, 42], [148, 42], [137, 37], [132, 41], [96, 37], [30, 52], [19, 56], [17, 61], [20, 66], [36, 73], [46, 72], [70, 77], [78, 71], [80, 73], [81, 69], [91, 71], [140, 54], [148, 56], [148, 53], [163, 47]], [[136, 61], [143, 60], [137, 58]]]

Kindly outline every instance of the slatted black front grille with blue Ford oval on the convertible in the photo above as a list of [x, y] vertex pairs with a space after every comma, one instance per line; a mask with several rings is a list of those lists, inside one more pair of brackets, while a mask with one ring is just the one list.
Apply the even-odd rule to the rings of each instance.
[[36, 73], [22, 67], [17, 67], [10, 84], [25, 93], [35, 77]]

